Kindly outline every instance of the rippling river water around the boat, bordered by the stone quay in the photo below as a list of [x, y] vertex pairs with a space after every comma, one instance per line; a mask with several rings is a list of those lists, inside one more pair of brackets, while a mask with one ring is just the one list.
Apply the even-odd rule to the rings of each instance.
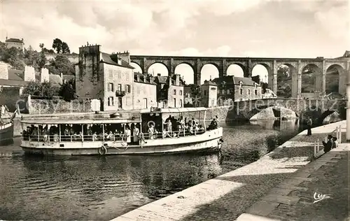
[[300, 131], [294, 120], [222, 126], [221, 155], [38, 157], [16, 138], [5, 147], [15, 153], [0, 157], [0, 220], [111, 220], [254, 162]]

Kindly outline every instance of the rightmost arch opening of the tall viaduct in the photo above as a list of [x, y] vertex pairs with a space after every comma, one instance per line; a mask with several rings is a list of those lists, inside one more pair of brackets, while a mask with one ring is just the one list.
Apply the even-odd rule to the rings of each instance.
[[325, 94], [346, 92], [346, 71], [342, 65], [330, 64], [325, 69]]

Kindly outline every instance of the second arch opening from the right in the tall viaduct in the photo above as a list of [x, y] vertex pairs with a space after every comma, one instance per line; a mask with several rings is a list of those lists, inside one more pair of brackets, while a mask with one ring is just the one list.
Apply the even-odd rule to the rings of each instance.
[[[306, 94], [322, 93], [322, 69], [316, 64], [307, 64], [302, 68], [301, 92]], [[307, 96], [309, 97], [309, 96]]]

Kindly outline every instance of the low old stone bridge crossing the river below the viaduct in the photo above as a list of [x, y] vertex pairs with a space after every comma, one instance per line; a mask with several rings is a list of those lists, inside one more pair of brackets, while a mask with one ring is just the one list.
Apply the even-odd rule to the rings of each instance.
[[346, 99], [260, 99], [237, 101], [228, 107], [230, 120], [248, 120], [261, 110], [271, 106], [283, 106], [293, 110], [297, 117], [307, 115], [314, 120], [322, 120], [337, 111], [344, 119], [346, 114]]

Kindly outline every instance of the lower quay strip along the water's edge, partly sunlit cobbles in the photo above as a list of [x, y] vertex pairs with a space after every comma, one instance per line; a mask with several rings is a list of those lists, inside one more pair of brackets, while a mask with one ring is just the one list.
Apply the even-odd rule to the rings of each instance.
[[[342, 125], [344, 131], [345, 121], [316, 127], [309, 137], [305, 136], [306, 131], [302, 131], [252, 164], [153, 201], [113, 221], [235, 220], [260, 197], [283, 192], [283, 187], [294, 188], [294, 185], [302, 183], [303, 179], [288, 178], [309, 164], [314, 153], [314, 142], [317, 139], [323, 140], [327, 134], [335, 134], [339, 125]], [[299, 199], [282, 197], [279, 200], [293, 202]]]

